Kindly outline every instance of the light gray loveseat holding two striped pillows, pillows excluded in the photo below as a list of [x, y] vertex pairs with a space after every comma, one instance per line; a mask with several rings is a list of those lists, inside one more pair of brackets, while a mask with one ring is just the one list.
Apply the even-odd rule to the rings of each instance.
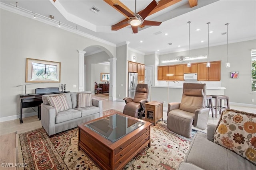
[[64, 93], [69, 109], [59, 113], [56, 113], [56, 109], [50, 106], [47, 100], [47, 96], [57, 95], [46, 94], [42, 96], [41, 123], [49, 136], [102, 117], [102, 101], [92, 98], [92, 106], [78, 108], [78, 93], [90, 93], [90, 91]]

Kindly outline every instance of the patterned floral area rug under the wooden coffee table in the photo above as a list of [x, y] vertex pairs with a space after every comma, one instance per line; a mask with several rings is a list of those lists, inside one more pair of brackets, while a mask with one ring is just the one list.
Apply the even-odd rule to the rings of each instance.
[[[104, 115], [118, 112], [104, 111]], [[172, 133], [159, 121], [151, 126], [151, 147], [145, 147], [123, 169], [175, 170], [184, 159], [195, 132], [190, 139]], [[78, 151], [78, 128], [58, 133], [49, 138], [43, 128], [21, 133], [20, 145], [25, 170], [99, 170], [94, 162]]]

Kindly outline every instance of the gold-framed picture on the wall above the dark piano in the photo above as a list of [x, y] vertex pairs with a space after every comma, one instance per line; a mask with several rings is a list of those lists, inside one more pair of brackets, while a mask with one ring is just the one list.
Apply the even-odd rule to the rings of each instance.
[[60, 62], [26, 58], [25, 82], [60, 82]]

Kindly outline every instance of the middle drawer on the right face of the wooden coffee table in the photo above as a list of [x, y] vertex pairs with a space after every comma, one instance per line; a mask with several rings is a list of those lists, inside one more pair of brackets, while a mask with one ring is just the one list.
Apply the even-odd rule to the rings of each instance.
[[131, 141], [130, 145], [125, 147], [122, 151], [120, 151], [118, 154], [115, 155], [115, 162], [117, 162], [120, 158], [125, 156], [126, 153], [128, 153], [130, 150], [132, 150], [134, 147], [139, 145], [141, 141], [147, 141], [149, 139], [150, 131], [146, 131], [146, 133], [142, 134], [138, 139], [135, 141]]

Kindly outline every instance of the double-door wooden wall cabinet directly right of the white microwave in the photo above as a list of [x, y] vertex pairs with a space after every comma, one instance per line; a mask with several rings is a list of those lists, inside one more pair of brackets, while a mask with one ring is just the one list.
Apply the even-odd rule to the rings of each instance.
[[210, 67], [206, 63], [198, 63], [198, 81], [220, 81], [220, 61], [210, 62]]

